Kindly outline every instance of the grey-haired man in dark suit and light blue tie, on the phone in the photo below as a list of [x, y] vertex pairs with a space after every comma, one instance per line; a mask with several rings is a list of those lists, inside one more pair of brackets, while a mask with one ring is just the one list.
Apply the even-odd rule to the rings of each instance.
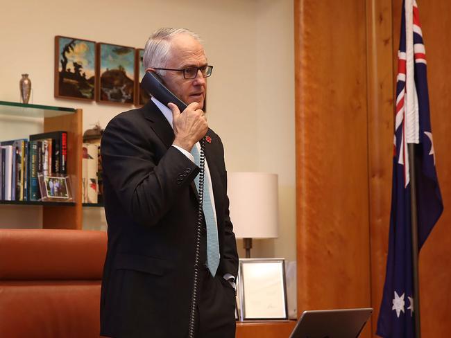
[[108, 251], [101, 335], [188, 337], [198, 224], [194, 180], [199, 173], [191, 152], [200, 149], [198, 141], [205, 136], [194, 332], [196, 338], [235, 337], [238, 256], [223, 145], [202, 111], [212, 66], [196, 34], [162, 28], [146, 44], [144, 67], [158, 73], [188, 107], [180, 113], [176, 105], [169, 109], [151, 98], [144, 107], [115, 116], [103, 133]]

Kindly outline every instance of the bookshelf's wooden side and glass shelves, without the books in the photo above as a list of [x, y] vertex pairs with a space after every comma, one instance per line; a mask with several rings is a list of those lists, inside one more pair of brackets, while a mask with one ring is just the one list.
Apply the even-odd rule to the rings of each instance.
[[[6, 207], [8, 204], [24, 207], [27, 205], [42, 206], [42, 228], [82, 229], [82, 109], [0, 101], [0, 118], [17, 120], [19, 123], [42, 121], [40, 132], [67, 131], [67, 175], [71, 179], [74, 197], [74, 202], [61, 203], [1, 201], [0, 207]], [[17, 130], [17, 134], [19, 134], [19, 130]], [[17, 136], [17, 139], [20, 137], [23, 136]]]

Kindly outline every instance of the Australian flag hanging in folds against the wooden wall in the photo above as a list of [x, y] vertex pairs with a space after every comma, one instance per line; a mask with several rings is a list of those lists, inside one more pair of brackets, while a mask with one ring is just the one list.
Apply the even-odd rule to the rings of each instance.
[[[414, 0], [402, 6], [398, 78], [396, 82], [393, 188], [389, 254], [377, 335], [384, 338], [415, 337], [414, 286], [411, 244], [410, 182], [415, 179], [418, 213], [418, 249], [443, 211], [435, 169], [429, 118], [426, 55]], [[409, 175], [407, 144], [415, 144], [416, 177]]]

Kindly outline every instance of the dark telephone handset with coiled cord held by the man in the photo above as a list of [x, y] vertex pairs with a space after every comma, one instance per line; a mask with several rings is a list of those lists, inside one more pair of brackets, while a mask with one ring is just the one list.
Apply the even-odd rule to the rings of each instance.
[[[149, 96], [155, 97], [162, 104], [167, 106], [168, 103], [173, 103], [178, 107], [180, 112], [183, 112], [187, 105], [175, 96], [169, 89], [167, 89], [162, 80], [154, 72], [148, 71], [141, 80], [141, 87]], [[198, 280], [199, 280], [199, 256], [201, 251], [201, 232], [203, 224], [203, 181], [205, 177], [205, 138], [199, 141], [201, 143], [201, 152], [199, 153], [199, 188], [198, 188], [198, 212], [197, 212], [197, 229], [196, 229], [196, 254], [194, 258], [194, 278], [193, 278], [193, 292], [192, 301], [189, 309], [189, 327], [188, 337], [194, 338], [195, 323], [196, 323], [196, 304], [198, 294]], [[196, 146], [196, 145], [194, 145]]]

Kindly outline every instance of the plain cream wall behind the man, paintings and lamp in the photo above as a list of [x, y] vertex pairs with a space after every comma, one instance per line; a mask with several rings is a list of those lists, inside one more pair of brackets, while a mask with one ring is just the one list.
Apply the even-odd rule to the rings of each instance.
[[[2, 0], [1, 12], [0, 100], [19, 100], [20, 74], [29, 73], [33, 103], [82, 108], [83, 130], [128, 108], [53, 98], [55, 35], [142, 48], [161, 26], [200, 34], [214, 65], [208, 121], [223, 139], [228, 171], [279, 175], [280, 237], [255, 240], [253, 256], [295, 259], [292, 0]], [[0, 139], [10, 130], [0, 120]], [[90, 227], [95, 217], [104, 221], [85, 214]]]

